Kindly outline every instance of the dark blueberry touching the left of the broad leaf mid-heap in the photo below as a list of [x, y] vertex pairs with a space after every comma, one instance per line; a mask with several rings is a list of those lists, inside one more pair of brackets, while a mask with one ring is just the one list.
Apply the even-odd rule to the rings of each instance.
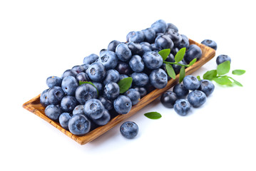
[[117, 98], [120, 93], [118, 84], [113, 82], [107, 83], [103, 91], [103, 95], [106, 95], [109, 100]]

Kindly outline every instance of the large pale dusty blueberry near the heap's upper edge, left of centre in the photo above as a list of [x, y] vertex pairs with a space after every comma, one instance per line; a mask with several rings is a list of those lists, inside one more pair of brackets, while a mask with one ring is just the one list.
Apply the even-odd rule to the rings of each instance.
[[116, 68], [118, 64], [118, 57], [113, 51], [106, 51], [103, 56], [101, 56], [101, 63], [106, 70]]

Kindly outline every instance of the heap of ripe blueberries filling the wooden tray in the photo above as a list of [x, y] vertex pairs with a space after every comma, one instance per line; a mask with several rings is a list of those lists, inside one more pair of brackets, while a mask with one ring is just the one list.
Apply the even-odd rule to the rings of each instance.
[[[200, 48], [190, 45], [188, 37], [178, 33], [175, 25], [155, 21], [142, 31], [130, 31], [126, 42], [111, 41], [99, 56], [94, 53], [86, 56], [82, 65], [73, 66], [61, 77], [48, 77], [48, 89], [41, 93], [40, 102], [46, 107], [48, 118], [74, 135], [85, 135], [106, 125], [116, 115], [128, 113], [132, 105], [155, 88], [164, 88], [170, 78], [158, 51], [170, 48], [166, 61], [173, 61], [175, 54], [184, 47], [187, 52], [180, 63], [186, 64], [202, 56]], [[175, 73], [179, 72], [179, 67], [173, 65]], [[125, 93], [120, 93], [118, 81], [128, 77], [133, 78], [132, 85]], [[93, 85], [81, 84], [83, 81]], [[197, 92], [193, 97], [196, 95]], [[180, 104], [183, 106], [182, 102]], [[121, 133], [128, 130], [122, 128]]]

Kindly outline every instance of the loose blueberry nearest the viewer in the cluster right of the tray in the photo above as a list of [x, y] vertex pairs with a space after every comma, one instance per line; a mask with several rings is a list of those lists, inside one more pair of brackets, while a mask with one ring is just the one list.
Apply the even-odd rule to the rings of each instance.
[[178, 113], [181, 116], [185, 116], [185, 115], [188, 115], [191, 105], [188, 102], [188, 100], [185, 100], [182, 98], [182, 99], [176, 100], [173, 107], [176, 113]]

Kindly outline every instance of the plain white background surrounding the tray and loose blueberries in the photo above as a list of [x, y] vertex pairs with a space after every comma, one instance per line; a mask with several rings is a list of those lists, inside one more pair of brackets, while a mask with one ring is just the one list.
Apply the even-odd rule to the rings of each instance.
[[[0, 170], [256, 170], [255, 5], [253, 1], [1, 1]], [[112, 40], [163, 19], [216, 56], [232, 58], [244, 86], [218, 86], [205, 105], [181, 117], [159, 99], [119, 127], [78, 145], [22, 104], [45, 90], [48, 76], [83, 63]], [[217, 67], [215, 58], [193, 73]], [[229, 73], [231, 75], [231, 73]], [[158, 111], [159, 120], [144, 113]]]

